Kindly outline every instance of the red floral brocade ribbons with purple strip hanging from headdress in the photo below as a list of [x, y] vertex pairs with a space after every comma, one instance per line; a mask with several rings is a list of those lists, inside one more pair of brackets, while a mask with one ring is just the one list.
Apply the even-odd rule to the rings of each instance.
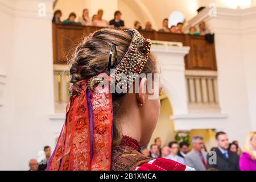
[[108, 83], [104, 88], [96, 86], [89, 91], [88, 80], [72, 86], [65, 123], [47, 170], [110, 170], [112, 94], [109, 76], [105, 73], [97, 76], [102, 77]]

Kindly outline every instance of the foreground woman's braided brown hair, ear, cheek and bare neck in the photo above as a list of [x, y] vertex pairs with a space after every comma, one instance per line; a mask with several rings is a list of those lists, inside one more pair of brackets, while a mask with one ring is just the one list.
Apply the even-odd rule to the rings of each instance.
[[[119, 61], [125, 55], [131, 40], [131, 35], [127, 32], [113, 29], [102, 29], [90, 34], [76, 48], [70, 69], [71, 82], [75, 83], [100, 73], [109, 73], [110, 49], [115, 45]], [[158, 63], [152, 53], [149, 54], [142, 73], [159, 73]], [[158, 84], [159, 80], [153, 80], [153, 90], [158, 93], [161, 85]], [[122, 134], [138, 139], [142, 145], [149, 142], [158, 120], [160, 101], [150, 100], [150, 94], [142, 92], [147, 84], [147, 78], [141, 78], [138, 85], [139, 93], [127, 93], [122, 97], [113, 98], [113, 146], [121, 142]]]

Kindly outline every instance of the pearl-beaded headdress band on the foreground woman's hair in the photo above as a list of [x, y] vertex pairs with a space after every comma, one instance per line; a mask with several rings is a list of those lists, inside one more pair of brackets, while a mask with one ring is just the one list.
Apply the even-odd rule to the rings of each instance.
[[113, 85], [117, 85], [116, 89], [121, 91], [119, 96], [122, 95], [123, 91], [126, 93], [133, 85], [134, 80], [141, 74], [144, 65], [148, 60], [148, 55], [151, 48], [151, 40], [144, 39], [143, 36], [135, 29], [126, 30], [131, 35], [131, 43], [127, 48], [126, 53], [122, 56], [119, 61], [115, 61], [115, 65], [112, 65], [113, 50], [115, 50], [116, 59], [116, 48], [112, 47], [109, 56], [109, 75]]

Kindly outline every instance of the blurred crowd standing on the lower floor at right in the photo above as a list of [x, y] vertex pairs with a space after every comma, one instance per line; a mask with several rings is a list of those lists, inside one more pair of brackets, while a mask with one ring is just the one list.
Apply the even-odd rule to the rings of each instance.
[[191, 144], [174, 141], [166, 146], [156, 138], [150, 150], [144, 147], [142, 153], [154, 159], [175, 160], [196, 171], [256, 171], [256, 132], [247, 135], [242, 150], [236, 140], [229, 143], [228, 135], [222, 131], [216, 133], [216, 142], [217, 147], [208, 152], [200, 135], [193, 137]]

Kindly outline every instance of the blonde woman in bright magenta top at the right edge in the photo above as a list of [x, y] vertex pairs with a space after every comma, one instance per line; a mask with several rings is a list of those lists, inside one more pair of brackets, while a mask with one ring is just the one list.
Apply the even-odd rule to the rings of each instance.
[[256, 132], [250, 132], [240, 158], [241, 171], [256, 171]]

